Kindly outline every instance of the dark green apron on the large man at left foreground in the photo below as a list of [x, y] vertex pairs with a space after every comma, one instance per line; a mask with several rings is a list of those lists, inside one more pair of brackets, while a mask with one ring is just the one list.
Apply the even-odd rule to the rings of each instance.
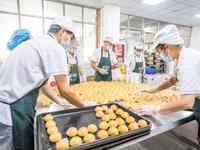
[[15, 150], [34, 150], [34, 117], [39, 89], [43, 84], [10, 105]]

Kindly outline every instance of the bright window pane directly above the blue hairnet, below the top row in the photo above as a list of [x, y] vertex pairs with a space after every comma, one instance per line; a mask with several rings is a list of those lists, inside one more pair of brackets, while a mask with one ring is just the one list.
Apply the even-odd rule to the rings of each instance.
[[[34, 22], [34, 26], [33, 26], [33, 22]], [[41, 18], [22, 16], [21, 27], [30, 30], [34, 38], [43, 34]]]

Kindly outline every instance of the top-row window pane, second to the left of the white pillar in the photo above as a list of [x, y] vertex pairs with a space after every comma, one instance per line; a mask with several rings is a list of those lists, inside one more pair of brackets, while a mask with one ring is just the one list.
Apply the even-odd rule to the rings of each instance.
[[65, 16], [73, 21], [82, 22], [82, 7], [65, 5]]

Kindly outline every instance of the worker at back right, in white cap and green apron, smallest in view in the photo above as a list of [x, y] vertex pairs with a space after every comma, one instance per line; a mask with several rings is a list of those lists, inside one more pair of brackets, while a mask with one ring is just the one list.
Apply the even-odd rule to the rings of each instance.
[[142, 51], [144, 49], [144, 45], [141, 42], [135, 43], [134, 52], [131, 53], [124, 62], [124, 71], [127, 72], [135, 72], [139, 74], [145, 75], [145, 59], [142, 55]]

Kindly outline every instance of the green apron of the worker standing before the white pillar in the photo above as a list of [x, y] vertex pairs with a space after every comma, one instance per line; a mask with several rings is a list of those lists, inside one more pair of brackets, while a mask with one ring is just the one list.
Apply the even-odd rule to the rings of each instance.
[[108, 74], [102, 75], [99, 71], [95, 71], [94, 80], [99, 81], [112, 81], [112, 73], [111, 73], [111, 61], [110, 54], [108, 51], [108, 57], [103, 56], [103, 48], [101, 47], [101, 59], [98, 67], [107, 70]]

